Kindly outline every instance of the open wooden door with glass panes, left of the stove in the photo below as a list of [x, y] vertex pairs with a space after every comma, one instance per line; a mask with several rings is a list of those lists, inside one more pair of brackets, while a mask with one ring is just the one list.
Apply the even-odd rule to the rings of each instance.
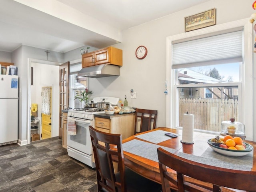
[[63, 135], [62, 110], [69, 108], [69, 62], [60, 65], [59, 137]]

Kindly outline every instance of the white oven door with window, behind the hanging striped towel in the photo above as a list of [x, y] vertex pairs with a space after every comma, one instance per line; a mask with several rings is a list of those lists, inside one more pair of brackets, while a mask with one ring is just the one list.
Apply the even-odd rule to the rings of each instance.
[[92, 155], [92, 141], [89, 126], [93, 125], [93, 121], [78, 118], [72, 119], [76, 122], [76, 135], [68, 135], [67, 145], [80, 152]]

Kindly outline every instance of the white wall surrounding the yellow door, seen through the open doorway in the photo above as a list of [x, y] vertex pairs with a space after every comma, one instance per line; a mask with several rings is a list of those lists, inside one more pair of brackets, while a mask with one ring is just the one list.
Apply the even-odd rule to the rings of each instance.
[[[59, 135], [59, 66], [32, 63], [33, 85], [31, 85], [31, 103], [38, 104], [38, 117], [42, 124], [42, 86], [52, 86], [52, 137]], [[42, 129], [41, 129], [42, 131]]]

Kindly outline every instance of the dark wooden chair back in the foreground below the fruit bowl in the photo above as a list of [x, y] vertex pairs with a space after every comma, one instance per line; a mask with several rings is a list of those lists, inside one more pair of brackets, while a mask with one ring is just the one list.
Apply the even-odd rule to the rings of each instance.
[[[221, 187], [256, 192], [256, 172], [201, 164], [172, 154], [163, 148], [158, 148], [157, 153], [163, 192], [170, 192], [169, 181], [178, 187], [179, 192], [220, 192]], [[177, 177], [168, 172], [166, 166], [176, 171]], [[184, 179], [185, 176], [208, 182], [213, 190], [196, 185], [191, 180]]]

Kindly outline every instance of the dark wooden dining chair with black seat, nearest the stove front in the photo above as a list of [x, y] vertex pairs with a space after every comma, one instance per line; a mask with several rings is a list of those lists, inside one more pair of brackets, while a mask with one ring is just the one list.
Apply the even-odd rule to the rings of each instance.
[[[92, 126], [89, 126], [89, 130], [98, 192], [160, 192], [162, 190], [161, 184], [140, 176], [124, 166], [122, 135], [101, 132]], [[114, 156], [118, 159], [116, 173], [112, 160]]]

